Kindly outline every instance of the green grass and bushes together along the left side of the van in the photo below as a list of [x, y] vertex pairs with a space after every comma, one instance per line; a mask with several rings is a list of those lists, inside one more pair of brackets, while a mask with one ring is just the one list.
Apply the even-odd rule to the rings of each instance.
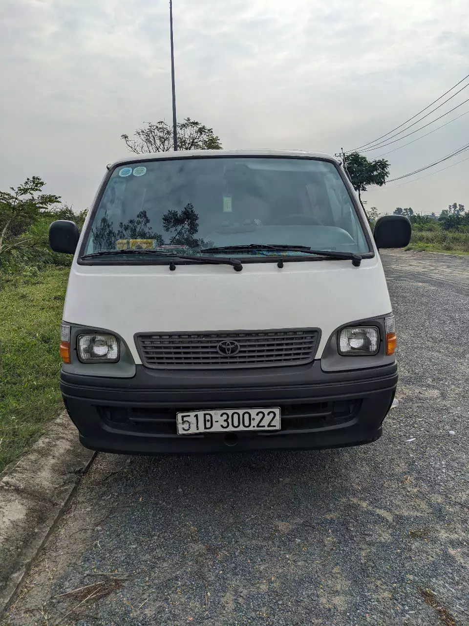
[[63, 407], [59, 324], [71, 257], [52, 252], [57, 219], [83, 225], [39, 177], [0, 192], [0, 471]]

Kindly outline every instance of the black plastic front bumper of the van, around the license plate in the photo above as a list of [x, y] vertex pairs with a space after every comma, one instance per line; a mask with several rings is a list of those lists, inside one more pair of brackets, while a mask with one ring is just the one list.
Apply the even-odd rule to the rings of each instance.
[[[279, 369], [271, 375], [243, 371], [228, 376], [226, 372], [165, 374], [137, 366], [131, 379], [61, 372], [61, 390], [81, 443], [105, 452], [335, 448], [370, 443], [381, 436], [396, 390], [395, 363], [326, 373], [318, 360], [307, 367], [288, 368], [286, 379]], [[300, 375], [295, 377], [292, 369]], [[191, 436], [176, 431], [178, 411], [271, 406], [281, 408], [280, 431]]]

